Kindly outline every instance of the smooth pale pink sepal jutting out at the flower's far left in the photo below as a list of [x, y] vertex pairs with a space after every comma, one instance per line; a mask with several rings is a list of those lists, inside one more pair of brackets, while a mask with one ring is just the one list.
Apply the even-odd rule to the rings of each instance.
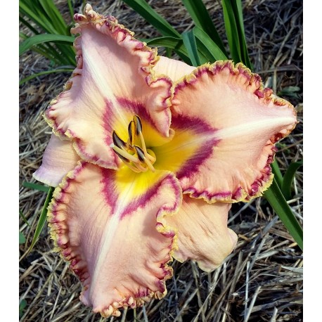
[[56, 187], [67, 172], [76, 167], [78, 160], [80, 158], [72, 148], [71, 141], [60, 140], [58, 136], [51, 134], [41, 166], [32, 176], [38, 181]]

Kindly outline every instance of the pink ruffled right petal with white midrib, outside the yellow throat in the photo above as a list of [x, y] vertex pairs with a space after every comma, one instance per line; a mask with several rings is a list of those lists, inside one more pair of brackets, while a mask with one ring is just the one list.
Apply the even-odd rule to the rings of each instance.
[[176, 127], [185, 131], [190, 120], [205, 124], [207, 132], [186, 142], [186, 148], [198, 143], [208, 157], [186, 162], [186, 171], [177, 175], [183, 192], [210, 202], [262, 195], [272, 180], [273, 144], [297, 124], [293, 106], [274, 98], [258, 75], [230, 61], [198, 67], [176, 85], [173, 102]]

